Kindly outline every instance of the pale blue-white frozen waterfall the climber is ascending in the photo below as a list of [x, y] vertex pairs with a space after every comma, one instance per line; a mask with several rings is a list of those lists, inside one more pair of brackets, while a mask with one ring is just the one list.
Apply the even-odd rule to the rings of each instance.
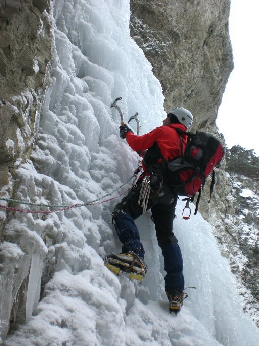
[[[17, 171], [20, 198], [29, 195], [31, 201], [56, 205], [95, 200], [137, 168], [138, 156], [120, 139], [119, 114], [110, 103], [122, 97], [126, 120], [139, 113], [140, 134], [160, 126], [165, 113], [160, 83], [130, 38], [129, 18], [129, 0], [53, 1], [52, 84], [41, 108], [34, 166], [28, 160]], [[15, 247], [12, 253], [24, 258], [27, 271], [30, 258], [32, 263], [27, 321], [6, 345], [259, 344], [210, 225], [199, 214], [182, 220], [183, 202], [174, 231], [186, 286], [197, 289], [189, 291], [177, 317], [168, 313], [163, 258], [149, 213], [137, 221], [149, 267], [144, 283], [116, 277], [104, 267], [101, 257], [121, 247], [109, 226], [115, 203], [38, 218], [17, 213], [9, 231], [28, 256]], [[49, 268], [43, 277], [51, 279], [37, 306], [43, 261]]]

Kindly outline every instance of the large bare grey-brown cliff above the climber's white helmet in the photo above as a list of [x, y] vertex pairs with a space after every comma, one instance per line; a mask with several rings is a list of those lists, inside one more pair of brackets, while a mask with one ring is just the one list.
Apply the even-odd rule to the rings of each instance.
[[230, 1], [131, 0], [131, 36], [153, 66], [164, 108], [184, 106], [193, 128], [214, 123], [233, 55], [228, 32]]

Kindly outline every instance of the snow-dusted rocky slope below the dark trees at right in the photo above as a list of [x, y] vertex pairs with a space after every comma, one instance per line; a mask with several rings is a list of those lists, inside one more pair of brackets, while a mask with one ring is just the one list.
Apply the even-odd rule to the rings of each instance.
[[[214, 225], [221, 253], [236, 275], [238, 291], [245, 299], [244, 311], [259, 327], [258, 183], [240, 174], [223, 173], [226, 184], [224, 180], [218, 184], [212, 205], [203, 204], [202, 214]], [[221, 199], [221, 194], [226, 197]]]

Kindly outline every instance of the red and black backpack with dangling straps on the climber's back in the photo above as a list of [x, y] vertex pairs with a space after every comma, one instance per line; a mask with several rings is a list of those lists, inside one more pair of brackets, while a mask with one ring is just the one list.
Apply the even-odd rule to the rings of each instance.
[[[218, 167], [225, 154], [224, 147], [216, 136], [208, 132], [190, 133], [175, 128], [180, 135], [182, 155], [166, 161], [166, 177], [176, 194], [186, 196], [187, 200], [184, 209], [191, 209], [189, 202], [193, 202], [196, 192], [199, 192], [194, 214], [197, 214], [198, 204], [201, 196], [201, 190], [205, 180], [212, 172], [212, 181], [210, 185], [210, 198], [215, 183], [214, 167]], [[183, 153], [182, 134], [188, 136], [185, 152]], [[183, 210], [184, 213], [184, 210]], [[184, 219], [189, 219], [184, 217]]]

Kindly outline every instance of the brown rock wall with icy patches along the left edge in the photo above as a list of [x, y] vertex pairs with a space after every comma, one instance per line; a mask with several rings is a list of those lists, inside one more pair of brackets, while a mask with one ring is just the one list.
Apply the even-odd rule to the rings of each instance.
[[[0, 193], [12, 194], [15, 167], [36, 140], [51, 59], [50, 0], [0, 1]], [[35, 123], [36, 119], [36, 123]], [[0, 234], [5, 215], [0, 215]], [[2, 236], [1, 236], [2, 238]]]

